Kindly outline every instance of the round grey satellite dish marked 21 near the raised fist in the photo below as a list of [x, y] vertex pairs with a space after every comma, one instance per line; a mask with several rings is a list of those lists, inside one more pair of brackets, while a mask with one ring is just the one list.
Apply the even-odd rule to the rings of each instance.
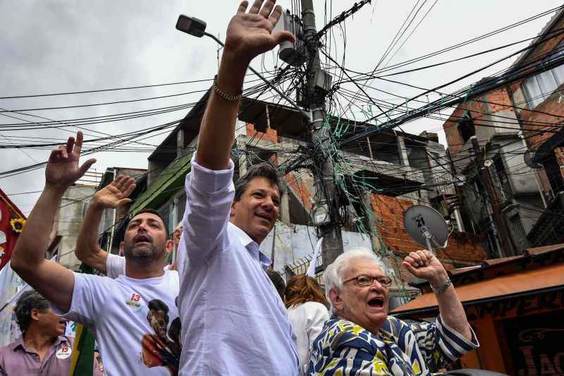
[[448, 225], [443, 214], [432, 207], [413, 205], [403, 213], [403, 227], [411, 238], [434, 254], [433, 246], [446, 247]]

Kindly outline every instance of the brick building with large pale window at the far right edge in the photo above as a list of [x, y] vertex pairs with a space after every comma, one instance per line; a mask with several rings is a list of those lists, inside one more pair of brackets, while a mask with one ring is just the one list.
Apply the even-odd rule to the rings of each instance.
[[527, 71], [547, 66], [507, 87], [515, 106], [525, 140], [531, 150], [529, 164], [537, 168], [546, 209], [527, 238], [532, 246], [564, 242], [564, 12], [559, 11], [546, 24], [534, 49], [523, 53], [512, 69]]

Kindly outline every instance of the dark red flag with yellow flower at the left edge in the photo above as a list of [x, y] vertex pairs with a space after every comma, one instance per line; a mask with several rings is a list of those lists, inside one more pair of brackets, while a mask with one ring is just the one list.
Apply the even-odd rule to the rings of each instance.
[[0, 189], [0, 270], [10, 261], [24, 225], [25, 215]]

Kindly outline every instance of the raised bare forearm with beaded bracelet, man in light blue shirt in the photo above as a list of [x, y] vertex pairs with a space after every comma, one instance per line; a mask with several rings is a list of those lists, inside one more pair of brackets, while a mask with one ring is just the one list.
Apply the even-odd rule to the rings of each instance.
[[[237, 95], [243, 88], [247, 67], [248, 63], [238, 61], [228, 50], [223, 51], [217, 75], [218, 87], [228, 95]], [[198, 140], [196, 161], [200, 166], [212, 170], [228, 169], [238, 107], [239, 101], [223, 99], [212, 89]]]

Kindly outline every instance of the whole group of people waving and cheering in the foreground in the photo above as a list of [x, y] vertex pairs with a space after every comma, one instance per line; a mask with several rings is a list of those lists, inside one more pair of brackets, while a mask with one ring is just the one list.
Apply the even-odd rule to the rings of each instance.
[[391, 279], [368, 250], [327, 265], [325, 291], [305, 275], [284, 287], [267, 272], [271, 260], [259, 245], [278, 218], [278, 171], [257, 164], [233, 183], [230, 155], [250, 61], [295, 41], [272, 32], [280, 16], [273, 0], [243, 1], [228, 25], [173, 239], [158, 212], [140, 210], [125, 227], [124, 257], [99, 247], [102, 212], [130, 202], [135, 189], [133, 178], [118, 176], [92, 198], [76, 246], [78, 258], [107, 277], [46, 260], [63, 193], [95, 162], [79, 165], [80, 132], [51, 152], [11, 260], [35, 292], [18, 302], [23, 337], [0, 350], [0, 374], [66, 375], [68, 358], [59, 356], [72, 347], [61, 332], [66, 320], [93, 329], [110, 376], [429, 375], [479, 346], [448, 274], [427, 251], [403, 261], [439, 301], [436, 321], [417, 325], [388, 315]]

